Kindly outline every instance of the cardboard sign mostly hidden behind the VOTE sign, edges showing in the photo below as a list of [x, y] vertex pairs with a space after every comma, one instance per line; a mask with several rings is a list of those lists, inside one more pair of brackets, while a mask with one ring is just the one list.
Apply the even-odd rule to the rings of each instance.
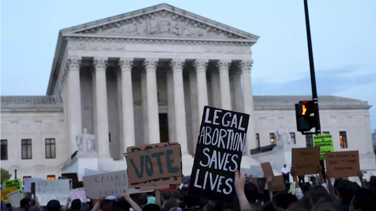
[[[158, 189], [164, 189], [170, 184], [181, 184], [182, 183], [182, 175], [181, 175], [181, 151], [180, 151], [180, 145], [179, 143], [156, 143], [156, 144], [148, 144], [148, 145], [137, 145], [137, 146], [131, 146], [127, 148], [127, 153], [125, 153], [125, 157], [128, 157], [128, 154], [132, 152], [141, 152], [141, 151], [146, 151], [150, 149], [155, 149], [155, 148], [165, 148], [165, 147], [170, 147], [178, 145], [179, 151], [176, 150], [176, 152], [179, 152], [179, 161], [174, 161], [174, 166], [178, 166], [180, 163], [180, 175], [179, 176], [165, 176], [164, 178], [157, 178], [157, 179], [152, 179], [144, 182], [135, 182], [135, 181], [130, 181], [129, 182], [129, 191], [131, 190], [130, 188], [142, 188], [143, 191], [146, 189], [149, 190], [158, 190]], [[174, 152], [174, 154], [176, 154]], [[170, 155], [171, 157], [171, 155]], [[167, 158], [167, 157], [166, 157]], [[163, 158], [161, 158], [163, 159]], [[158, 161], [157, 161], [158, 163]], [[165, 163], [167, 164], [167, 163]], [[127, 158], [127, 166], [128, 169], [134, 169], [131, 164], [128, 164], [128, 158]], [[163, 167], [163, 166], [162, 166]], [[159, 166], [158, 166], [159, 168]], [[166, 168], [166, 166], [164, 166]], [[166, 171], [165, 171], [166, 172]], [[158, 176], [159, 177], [159, 176]], [[146, 188], [146, 189], [145, 189]]]

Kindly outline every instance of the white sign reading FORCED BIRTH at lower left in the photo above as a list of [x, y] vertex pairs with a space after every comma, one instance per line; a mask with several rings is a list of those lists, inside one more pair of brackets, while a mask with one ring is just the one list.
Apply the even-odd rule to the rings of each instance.
[[35, 182], [35, 196], [39, 204], [47, 205], [50, 200], [58, 200], [65, 204], [70, 194], [68, 179], [42, 180]]

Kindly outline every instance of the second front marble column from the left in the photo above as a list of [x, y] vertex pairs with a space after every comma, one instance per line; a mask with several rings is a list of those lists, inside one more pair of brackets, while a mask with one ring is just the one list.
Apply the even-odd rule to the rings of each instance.
[[107, 58], [94, 57], [93, 66], [96, 77], [96, 114], [97, 114], [97, 140], [98, 154], [109, 156], [109, 137], [108, 137], [108, 104], [107, 104], [107, 86], [106, 86], [106, 66]]

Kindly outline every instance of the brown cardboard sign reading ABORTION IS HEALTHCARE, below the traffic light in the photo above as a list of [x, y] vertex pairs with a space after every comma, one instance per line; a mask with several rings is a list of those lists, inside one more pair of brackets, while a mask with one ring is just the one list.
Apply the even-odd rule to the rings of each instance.
[[320, 147], [293, 148], [293, 164], [297, 175], [315, 174], [320, 165]]

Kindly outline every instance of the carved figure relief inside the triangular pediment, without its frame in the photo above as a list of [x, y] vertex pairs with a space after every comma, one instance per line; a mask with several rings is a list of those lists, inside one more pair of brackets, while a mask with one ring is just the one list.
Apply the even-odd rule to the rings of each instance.
[[80, 33], [241, 38], [167, 11], [154, 12]]

